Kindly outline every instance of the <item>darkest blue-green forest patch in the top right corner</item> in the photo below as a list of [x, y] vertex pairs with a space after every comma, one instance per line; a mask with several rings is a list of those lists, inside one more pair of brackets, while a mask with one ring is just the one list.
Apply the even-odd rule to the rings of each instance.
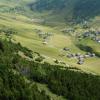
[[100, 15], [99, 0], [79, 0], [74, 7], [74, 16], [79, 16], [81, 19], [90, 19]]

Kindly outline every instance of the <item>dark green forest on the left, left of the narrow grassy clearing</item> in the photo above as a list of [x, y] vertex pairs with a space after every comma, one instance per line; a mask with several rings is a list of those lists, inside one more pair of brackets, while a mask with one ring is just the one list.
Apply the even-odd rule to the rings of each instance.
[[39, 91], [36, 84], [21, 74], [23, 67], [30, 65], [18, 55], [19, 50], [30, 55], [20, 44], [0, 41], [0, 100], [50, 100], [44, 91]]

